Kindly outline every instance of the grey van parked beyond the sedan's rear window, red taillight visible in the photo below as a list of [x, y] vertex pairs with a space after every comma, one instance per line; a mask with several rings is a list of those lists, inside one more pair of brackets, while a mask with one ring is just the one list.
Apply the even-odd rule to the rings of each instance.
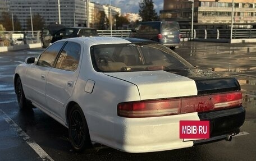
[[139, 22], [129, 37], [149, 39], [175, 48], [180, 44], [180, 26], [176, 21]]

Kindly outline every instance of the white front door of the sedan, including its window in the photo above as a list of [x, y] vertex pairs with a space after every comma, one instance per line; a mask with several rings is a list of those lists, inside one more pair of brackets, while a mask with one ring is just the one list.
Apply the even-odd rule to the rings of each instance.
[[40, 107], [45, 107], [45, 85], [47, 76], [64, 43], [65, 42], [53, 44], [51, 47], [44, 50], [38, 61], [32, 64], [26, 72], [24, 82], [24, 86], [28, 91], [28, 95], [26, 96]]

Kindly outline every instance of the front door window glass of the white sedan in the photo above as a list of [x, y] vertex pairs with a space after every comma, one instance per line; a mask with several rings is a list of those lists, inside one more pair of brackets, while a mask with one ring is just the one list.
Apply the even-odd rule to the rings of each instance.
[[65, 42], [55, 43], [46, 50], [44, 50], [44, 52], [40, 55], [38, 59], [37, 65], [43, 67], [52, 67], [64, 43]]

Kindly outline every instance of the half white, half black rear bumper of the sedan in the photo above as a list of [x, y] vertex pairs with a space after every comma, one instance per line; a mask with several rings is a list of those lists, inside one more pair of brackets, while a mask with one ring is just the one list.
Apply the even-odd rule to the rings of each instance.
[[[115, 121], [112, 138], [103, 144], [129, 153], [143, 153], [180, 149], [225, 139], [228, 134], [236, 134], [243, 125], [245, 109], [243, 107], [213, 111], [208, 113], [186, 113], [173, 116], [150, 118], [122, 118]], [[180, 139], [180, 121], [210, 121], [210, 139]]]

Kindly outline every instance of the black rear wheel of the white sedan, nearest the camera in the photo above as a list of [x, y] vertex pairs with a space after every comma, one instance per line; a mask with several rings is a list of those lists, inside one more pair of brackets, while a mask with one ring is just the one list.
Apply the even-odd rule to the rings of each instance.
[[79, 105], [75, 104], [72, 107], [68, 118], [68, 135], [72, 147], [76, 151], [91, 148], [92, 142], [90, 140], [88, 125]]

